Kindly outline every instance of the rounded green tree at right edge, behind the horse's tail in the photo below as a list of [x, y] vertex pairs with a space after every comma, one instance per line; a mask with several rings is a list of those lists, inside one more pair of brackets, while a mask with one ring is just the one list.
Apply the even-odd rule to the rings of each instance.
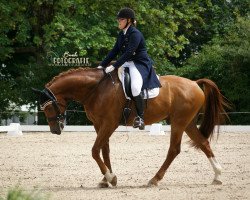
[[[218, 36], [177, 71], [192, 79], [214, 80], [236, 111], [250, 110], [250, 19], [238, 18], [228, 33]], [[233, 123], [249, 123], [249, 115], [231, 116]]]

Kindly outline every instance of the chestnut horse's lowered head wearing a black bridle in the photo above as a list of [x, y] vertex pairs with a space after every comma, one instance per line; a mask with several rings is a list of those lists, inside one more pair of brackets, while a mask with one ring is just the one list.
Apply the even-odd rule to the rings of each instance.
[[56, 96], [48, 88], [42, 91], [34, 88], [32, 88], [32, 90], [39, 95], [41, 110], [47, 118], [51, 133], [60, 135], [64, 128], [65, 102], [59, 102]]

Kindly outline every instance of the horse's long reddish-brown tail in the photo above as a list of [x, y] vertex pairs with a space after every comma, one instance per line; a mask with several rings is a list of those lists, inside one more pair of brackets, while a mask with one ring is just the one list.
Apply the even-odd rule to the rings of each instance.
[[199, 130], [205, 138], [211, 138], [215, 125], [219, 126], [226, 117], [228, 118], [225, 108], [230, 106], [213, 81], [204, 78], [196, 83], [204, 86], [205, 94], [204, 116]]

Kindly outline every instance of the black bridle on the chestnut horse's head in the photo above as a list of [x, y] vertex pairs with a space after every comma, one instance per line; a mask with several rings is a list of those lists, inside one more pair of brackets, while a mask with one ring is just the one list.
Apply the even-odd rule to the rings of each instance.
[[44, 110], [48, 105], [52, 104], [53, 108], [56, 111], [56, 116], [47, 118], [47, 121], [48, 122], [56, 121], [60, 129], [63, 129], [64, 125], [62, 121], [65, 119], [65, 115], [61, 112], [59, 105], [63, 107], [66, 106], [57, 101], [55, 95], [51, 92], [50, 89], [45, 88], [42, 91], [42, 93], [48, 98], [48, 100], [46, 100], [44, 103], [40, 105], [41, 110]]

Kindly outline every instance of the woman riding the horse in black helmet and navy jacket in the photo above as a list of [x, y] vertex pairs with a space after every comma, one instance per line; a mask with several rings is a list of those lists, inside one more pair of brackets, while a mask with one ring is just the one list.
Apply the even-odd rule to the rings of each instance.
[[[146, 50], [145, 39], [135, 27], [135, 12], [131, 8], [123, 8], [117, 14], [118, 34], [113, 49], [100, 63], [98, 68], [105, 68], [106, 73], [112, 72], [120, 66], [127, 67], [131, 76], [131, 91], [135, 102], [137, 116], [134, 119], [134, 128], [145, 129], [144, 124], [144, 89], [161, 87], [153, 69], [153, 61]], [[117, 57], [113, 65], [110, 62]]]

